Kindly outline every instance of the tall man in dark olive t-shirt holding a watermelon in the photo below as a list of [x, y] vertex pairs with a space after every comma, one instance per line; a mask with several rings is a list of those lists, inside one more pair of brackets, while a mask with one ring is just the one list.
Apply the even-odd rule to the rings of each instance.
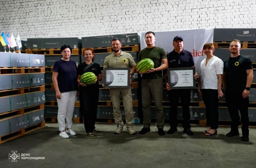
[[[147, 70], [142, 74], [141, 91], [142, 91], [142, 112], [143, 128], [140, 134], [150, 131], [151, 123], [151, 96], [156, 106], [156, 123], [158, 134], [163, 136], [164, 133], [164, 109], [163, 109], [163, 76], [162, 70], [168, 68], [167, 57], [164, 49], [155, 46], [155, 33], [148, 31], [145, 35], [147, 47], [140, 51], [138, 62], [148, 58], [154, 62], [154, 68]], [[140, 73], [140, 72], [138, 72]], [[140, 73], [141, 74], [141, 73]]]

